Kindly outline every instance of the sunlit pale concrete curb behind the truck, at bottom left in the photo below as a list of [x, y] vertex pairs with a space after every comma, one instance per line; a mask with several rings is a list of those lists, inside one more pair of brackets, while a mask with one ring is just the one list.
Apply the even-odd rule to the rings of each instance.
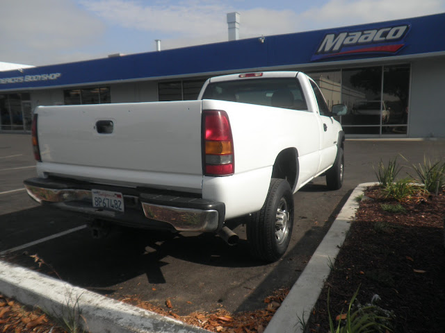
[[73, 309], [79, 309], [85, 319], [79, 323], [91, 333], [208, 332], [2, 261], [0, 291], [56, 318], [67, 318], [74, 313]]

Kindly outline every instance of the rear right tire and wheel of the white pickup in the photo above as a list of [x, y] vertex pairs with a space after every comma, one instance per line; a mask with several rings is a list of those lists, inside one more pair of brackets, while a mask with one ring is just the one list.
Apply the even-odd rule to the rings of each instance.
[[276, 262], [286, 252], [293, 229], [293, 195], [289, 182], [272, 178], [266, 202], [250, 216], [247, 225], [250, 252], [258, 259]]

